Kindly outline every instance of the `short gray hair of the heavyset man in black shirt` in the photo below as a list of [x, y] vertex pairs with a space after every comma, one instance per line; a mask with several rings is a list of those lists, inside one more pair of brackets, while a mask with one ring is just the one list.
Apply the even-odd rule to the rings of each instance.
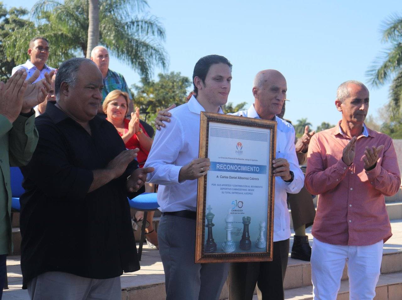
[[78, 69], [82, 63], [93, 63], [88, 58], [74, 57], [67, 61], [64, 61], [57, 70], [56, 80], [54, 84], [54, 90], [56, 94], [56, 100], [60, 100], [60, 87], [63, 82], [66, 82], [68, 86], [75, 86], [78, 80]]

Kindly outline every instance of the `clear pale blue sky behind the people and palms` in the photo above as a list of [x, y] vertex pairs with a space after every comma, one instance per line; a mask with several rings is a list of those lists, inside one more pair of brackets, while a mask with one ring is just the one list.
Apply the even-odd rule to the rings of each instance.
[[[31, 8], [33, 0], [4, 4]], [[362, 1], [165, 1], [148, 0], [149, 14], [166, 29], [164, 46], [168, 71], [191, 77], [197, 60], [208, 54], [226, 56], [233, 64], [229, 102], [254, 102], [255, 74], [277, 69], [287, 80], [285, 118], [294, 123], [308, 118], [315, 129], [321, 122], [335, 124], [337, 86], [346, 80], [367, 84], [365, 71], [387, 45], [381, 44], [381, 22], [402, 14], [402, 2]], [[53, 52], [54, 53], [54, 52]], [[129, 85], [139, 76], [111, 58]], [[154, 70], [154, 76], [160, 72]], [[370, 90], [369, 114], [388, 102], [389, 83]]]

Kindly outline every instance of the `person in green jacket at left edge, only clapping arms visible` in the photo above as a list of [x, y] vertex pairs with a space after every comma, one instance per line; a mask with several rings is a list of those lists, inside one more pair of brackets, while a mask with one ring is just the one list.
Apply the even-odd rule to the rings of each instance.
[[38, 141], [33, 107], [45, 100], [51, 76], [33, 84], [27, 72], [18, 70], [4, 84], [0, 82], [0, 300], [6, 279], [6, 255], [12, 253], [10, 166], [26, 165]]

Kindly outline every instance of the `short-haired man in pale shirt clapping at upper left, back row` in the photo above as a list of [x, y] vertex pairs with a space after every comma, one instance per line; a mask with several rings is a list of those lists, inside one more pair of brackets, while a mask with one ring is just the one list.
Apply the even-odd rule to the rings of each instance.
[[36, 70], [40, 71], [39, 77], [35, 82], [45, 78], [45, 73], [50, 73], [54, 70], [52, 67], [46, 65], [47, 58], [49, 57], [49, 42], [44, 37], [34, 37], [29, 42], [28, 59], [22, 65], [17, 65], [12, 68], [11, 75], [18, 70], [25, 70], [27, 72], [27, 79], [29, 79]]

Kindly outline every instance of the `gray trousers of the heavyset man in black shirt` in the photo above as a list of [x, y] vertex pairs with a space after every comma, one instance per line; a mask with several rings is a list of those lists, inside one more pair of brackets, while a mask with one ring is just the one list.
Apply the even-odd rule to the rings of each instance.
[[120, 277], [91, 279], [46, 272], [27, 284], [31, 300], [121, 300]]

